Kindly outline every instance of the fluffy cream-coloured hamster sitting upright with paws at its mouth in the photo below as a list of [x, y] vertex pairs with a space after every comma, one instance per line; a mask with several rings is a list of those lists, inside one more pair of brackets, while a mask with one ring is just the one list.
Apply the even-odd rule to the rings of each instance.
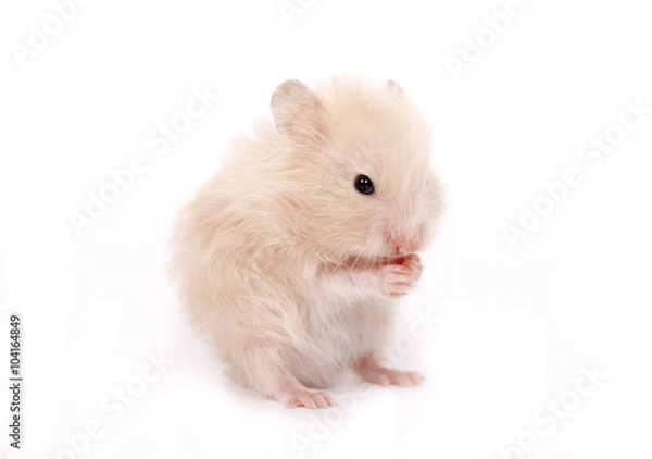
[[331, 406], [347, 370], [419, 384], [380, 351], [442, 210], [427, 120], [393, 80], [287, 80], [271, 109], [180, 212], [183, 308], [228, 376], [288, 408]]

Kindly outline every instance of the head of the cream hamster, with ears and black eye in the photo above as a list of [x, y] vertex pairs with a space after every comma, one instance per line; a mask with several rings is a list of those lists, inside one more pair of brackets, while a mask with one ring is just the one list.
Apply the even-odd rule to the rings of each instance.
[[430, 127], [394, 82], [279, 85], [272, 113], [301, 236], [329, 262], [421, 251], [442, 210]]

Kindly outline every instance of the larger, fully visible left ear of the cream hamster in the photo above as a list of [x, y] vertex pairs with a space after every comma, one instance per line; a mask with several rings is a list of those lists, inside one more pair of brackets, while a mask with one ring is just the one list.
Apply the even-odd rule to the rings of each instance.
[[272, 95], [272, 115], [281, 136], [304, 142], [326, 135], [324, 111], [317, 95], [303, 83], [288, 79]]

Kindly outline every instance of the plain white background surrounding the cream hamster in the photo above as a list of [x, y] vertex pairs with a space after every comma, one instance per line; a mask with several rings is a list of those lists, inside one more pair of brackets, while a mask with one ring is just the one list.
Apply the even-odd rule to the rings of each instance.
[[[652, 113], [599, 166], [578, 153], [628, 103], [652, 106], [649, 7], [526, 0], [492, 36], [486, 17], [505, 2], [292, 1], [290, 24], [277, 0], [68, 4], [24, 59], [54, 11], [2, 2], [0, 302], [4, 320], [23, 317], [25, 377], [11, 457], [518, 458], [527, 434], [527, 458], [652, 457]], [[478, 33], [485, 49], [465, 62]], [[333, 74], [393, 78], [418, 101], [448, 210], [398, 331], [418, 311], [439, 318], [398, 362], [427, 382], [362, 394], [344, 380], [334, 394], [354, 406], [325, 414], [227, 383], [184, 327], [164, 264], [175, 213], [268, 116], [274, 87]], [[206, 85], [220, 100], [156, 156], [145, 137]], [[147, 173], [75, 232], [71, 212], [138, 153]], [[507, 225], [573, 168], [579, 184], [511, 244]], [[174, 363], [145, 384], [148, 352]], [[578, 396], [591, 364], [606, 377]], [[108, 410], [124, 387], [139, 396]], [[546, 430], [535, 417], [560, 397], [573, 409]], [[91, 421], [101, 435], [86, 439]]]

